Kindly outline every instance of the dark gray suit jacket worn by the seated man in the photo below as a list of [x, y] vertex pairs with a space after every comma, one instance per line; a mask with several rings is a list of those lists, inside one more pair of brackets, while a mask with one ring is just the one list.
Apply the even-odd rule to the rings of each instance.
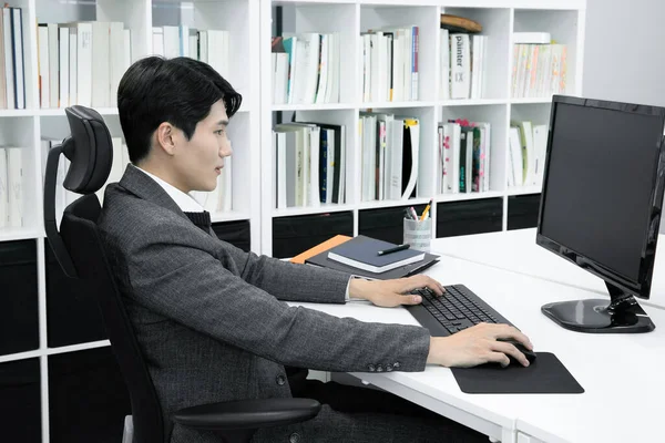
[[[420, 371], [429, 333], [289, 307], [345, 302], [349, 276], [246, 254], [196, 227], [152, 178], [129, 165], [108, 186], [99, 222], [175, 442], [213, 442], [170, 423], [174, 410], [226, 400], [290, 396], [285, 365], [324, 371]], [[259, 431], [255, 441], [335, 439], [335, 411]], [[337, 441], [342, 441], [337, 440]]]

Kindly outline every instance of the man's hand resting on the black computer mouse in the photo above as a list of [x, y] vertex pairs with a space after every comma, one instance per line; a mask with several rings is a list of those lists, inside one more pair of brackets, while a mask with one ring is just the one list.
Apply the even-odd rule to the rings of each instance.
[[480, 323], [449, 337], [430, 338], [427, 362], [449, 368], [469, 368], [490, 362], [507, 367], [510, 354], [523, 365], [529, 365], [518, 348], [497, 339], [513, 339], [529, 350], [533, 349], [529, 338], [512, 326]]

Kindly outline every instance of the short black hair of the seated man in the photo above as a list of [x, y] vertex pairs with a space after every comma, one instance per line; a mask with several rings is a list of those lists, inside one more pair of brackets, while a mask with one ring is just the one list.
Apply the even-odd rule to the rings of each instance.
[[196, 124], [224, 101], [231, 119], [242, 96], [207, 63], [181, 56], [147, 56], [133, 63], [117, 87], [120, 125], [134, 164], [145, 158], [151, 136], [168, 122], [191, 138]]

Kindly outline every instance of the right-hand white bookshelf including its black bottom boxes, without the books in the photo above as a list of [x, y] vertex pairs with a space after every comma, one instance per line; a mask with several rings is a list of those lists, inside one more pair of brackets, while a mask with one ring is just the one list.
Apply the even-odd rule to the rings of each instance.
[[[511, 214], [521, 216], [523, 202], [531, 202], [531, 210], [536, 207], [540, 185], [524, 184], [509, 186], [511, 125], [515, 122], [529, 121], [533, 126], [546, 125], [550, 116], [550, 93], [520, 95], [513, 89], [513, 32], [548, 32], [553, 43], [566, 47], [565, 90], [561, 93], [579, 95], [582, 93], [582, 60], [584, 48], [585, 0], [536, 1], [429, 1], [418, 0], [405, 6], [392, 0], [357, 0], [357, 1], [264, 1], [260, 6], [260, 63], [270, 66], [273, 58], [272, 38], [280, 29], [283, 35], [304, 35], [309, 32], [338, 33], [341, 37], [340, 51], [340, 91], [339, 101], [335, 103], [275, 103], [273, 72], [262, 69], [262, 219], [260, 250], [268, 255], [288, 256], [291, 250], [283, 236], [289, 230], [297, 230], [308, 223], [316, 224], [323, 217], [342, 214], [350, 222], [340, 222], [339, 230], [349, 229], [350, 234], [376, 233], [397, 241], [401, 226], [401, 208], [424, 206], [433, 200], [431, 217], [437, 229], [433, 236], [459, 235], [467, 233], [463, 228], [464, 217], [491, 220], [474, 228], [472, 220], [469, 234], [483, 229], [505, 230], [515, 223], [509, 223]], [[277, 14], [277, 8], [280, 8]], [[480, 32], [487, 35], [483, 52], [483, 80], [480, 96], [468, 99], [450, 99], [442, 94], [440, 14], [449, 13], [466, 17], [482, 24]], [[274, 21], [280, 17], [280, 23]], [[277, 25], [279, 24], [279, 25]], [[418, 27], [418, 94], [415, 100], [367, 101], [364, 82], [365, 47], [362, 34], [370, 29]], [[450, 31], [451, 33], [453, 31]], [[451, 49], [452, 50], [452, 49]], [[396, 51], [395, 49], [392, 51]], [[396, 52], [392, 52], [393, 54]], [[370, 55], [371, 56], [371, 55]], [[379, 55], [380, 56], [380, 55]], [[393, 60], [395, 61], [395, 60]], [[518, 62], [516, 60], [514, 62]], [[374, 66], [372, 66], [374, 69]], [[448, 71], [446, 71], [448, 72]], [[395, 74], [393, 74], [395, 75]], [[534, 74], [535, 75], [535, 74]], [[395, 76], [393, 76], [395, 79]], [[288, 82], [288, 81], [287, 81]], [[545, 82], [543, 80], [543, 82]], [[296, 80], [297, 83], [297, 80]], [[288, 83], [287, 83], [288, 84]], [[382, 97], [382, 95], [381, 95]], [[407, 115], [418, 119], [420, 126], [420, 146], [418, 165], [418, 192], [415, 198], [408, 199], [367, 199], [362, 190], [364, 141], [362, 128], [358, 119], [366, 111]], [[490, 176], [487, 190], [473, 193], [442, 193], [439, 188], [437, 164], [439, 158], [439, 123], [450, 119], [468, 119], [470, 122], [490, 123], [489, 136], [491, 154], [489, 155]], [[311, 204], [294, 207], [276, 208], [273, 196], [275, 174], [273, 162], [278, 151], [273, 146], [273, 131], [279, 122], [319, 122], [344, 125], [346, 128], [346, 199], [342, 204]], [[365, 158], [367, 161], [367, 158]], [[482, 208], [487, 207], [483, 213]], [[385, 219], [377, 222], [376, 230], [371, 230], [372, 217], [380, 220], [380, 212], [385, 210]], [[459, 219], [454, 218], [456, 212]], [[521, 213], [520, 213], [521, 214]], [[365, 220], [365, 222], [362, 222]], [[391, 222], [390, 222], [391, 220]], [[497, 222], [498, 220], [498, 222]], [[293, 223], [290, 223], [293, 222]], [[443, 224], [457, 224], [462, 227], [451, 231]], [[393, 233], [387, 234], [387, 226], [392, 224]], [[280, 231], [277, 231], [277, 230]], [[332, 228], [335, 230], [335, 228]], [[370, 230], [365, 230], [370, 229]], [[474, 230], [475, 229], [475, 230]], [[339, 234], [330, 231], [329, 234]], [[324, 233], [320, 233], [325, 236]], [[305, 239], [293, 235], [293, 244], [307, 246]], [[276, 239], [279, 240], [276, 243]], [[295, 248], [296, 246], [294, 246]]]

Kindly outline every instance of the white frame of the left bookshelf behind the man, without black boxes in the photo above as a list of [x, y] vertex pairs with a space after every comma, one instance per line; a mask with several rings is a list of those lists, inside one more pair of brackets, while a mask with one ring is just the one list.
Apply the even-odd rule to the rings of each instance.
[[[250, 248], [260, 248], [260, 151], [259, 151], [259, 0], [10, 0], [22, 9], [25, 109], [0, 109], [0, 146], [21, 146], [23, 161], [23, 225], [0, 228], [0, 243], [34, 240], [37, 246], [37, 288], [39, 307], [39, 347], [1, 354], [0, 363], [38, 358], [41, 384], [41, 442], [49, 435], [49, 357], [108, 347], [108, 340], [49, 347], [47, 317], [45, 231], [43, 227], [43, 184], [41, 171], [42, 137], [68, 136], [64, 106], [40, 106], [38, 69], [38, 23], [72, 21], [121, 21], [131, 30], [131, 61], [153, 54], [153, 27], [188, 25], [197, 29], [227, 30], [231, 35], [231, 66], [225, 75], [243, 94], [238, 113], [228, 126], [233, 146], [232, 212], [212, 215], [213, 223], [248, 220]], [[115, 93], [115, 91], [113, 91]], [[78, 103], [69, 103], [78, 104]], [[111, 135], [122, 137], [116, 107], [94, 107], [109, 125]], [[122, 426], [122, 423], [119, 423]]]

